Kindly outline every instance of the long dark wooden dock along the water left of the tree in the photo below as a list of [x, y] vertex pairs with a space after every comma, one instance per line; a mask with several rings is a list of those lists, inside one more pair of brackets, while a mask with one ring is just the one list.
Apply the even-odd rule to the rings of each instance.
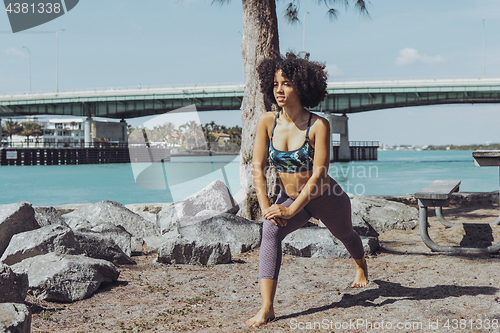
[[0, 148], [0, 165], [70, 165], [170, 161], [170, 149], [146, 147]]

